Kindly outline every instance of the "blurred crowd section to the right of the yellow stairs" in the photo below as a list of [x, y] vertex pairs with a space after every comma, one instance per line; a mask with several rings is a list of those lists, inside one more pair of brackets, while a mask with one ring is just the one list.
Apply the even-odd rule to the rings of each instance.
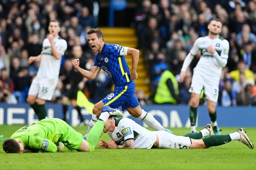
[[[256, 0], [140, 0], [135, 23], [153, 102], [163, 72], [171, 71], [178, 80], [186, 55], [197, 38], [208, 35], [212, 18], [222, 21], [220, 35], [230, 43], [218, 104], [256, 105]], [[193, 68], [200, 56], [195, 56], [186, 81], [179, 84], [178, 103], [189, 104]]]

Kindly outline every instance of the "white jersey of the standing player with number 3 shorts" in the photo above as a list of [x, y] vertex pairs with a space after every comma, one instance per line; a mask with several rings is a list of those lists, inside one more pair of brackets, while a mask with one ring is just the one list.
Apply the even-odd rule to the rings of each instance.
[[218, 64], [215, 57], [207, 51], [209, 45], [212, 45], [215, 48], [222, 59], [228, 58], [229, 42], [227, 40], [222, 37], [215, 39], [210, 39], [208, 36], [200, 37], [195, 41], [192, 49], [190, 50], [190, 54], [194, 56], [198, 51], [201, 51], [201, 57], [194, 68], [194, 72], [211, 77], [220, 77], [222, 67]]

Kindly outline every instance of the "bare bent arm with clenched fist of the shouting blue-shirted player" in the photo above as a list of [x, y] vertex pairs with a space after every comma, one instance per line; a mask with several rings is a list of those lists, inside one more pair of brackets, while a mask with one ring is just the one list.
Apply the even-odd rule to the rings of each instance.
[[73, 59], [72, 64], [76, 71], [78, 71], [82, 76], [90, 80], [94, 80], [101, 70], [100, 67], [96, 66], [93, 66], [90, 71], [84, 70], [81, 67], [79, 67], [79, 59]]

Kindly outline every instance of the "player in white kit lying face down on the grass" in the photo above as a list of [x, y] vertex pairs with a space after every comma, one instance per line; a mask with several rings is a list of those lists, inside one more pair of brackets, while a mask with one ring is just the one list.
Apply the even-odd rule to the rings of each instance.
[[[243, 128], [227, 135], [213, 135], [212, 126], [207, 124], [199, 132], [188, 133], [185, 136], [176, 136], [166, 131], [150, 131], [128, 118], [113, 119], [110, 117], [104, 125], [104, 133], [111, 139], [108, 142], [99, 142], [100, 148], [120, 149], [205, 149], [212, 146], [226, 144], [239, 140], [250, 149], [253, 149], [251, 140]], [[204, 139], [201, 139], [205, 137]]]

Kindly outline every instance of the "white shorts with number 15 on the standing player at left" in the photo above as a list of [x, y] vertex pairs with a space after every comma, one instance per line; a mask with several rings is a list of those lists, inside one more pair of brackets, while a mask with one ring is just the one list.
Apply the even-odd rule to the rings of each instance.
[[58, 79], [36, 76], [29, 88], [29, 95], [38, 96], [38, 98], [44, 100], [51, 100], [57, 83]]

